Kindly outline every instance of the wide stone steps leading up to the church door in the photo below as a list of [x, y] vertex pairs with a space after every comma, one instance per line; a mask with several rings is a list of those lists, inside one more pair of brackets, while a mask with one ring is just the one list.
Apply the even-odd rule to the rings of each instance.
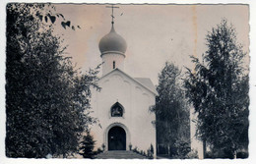
[[147, 159], [147, 157], [133, 151], [112, 150], [96, 155], [96, 159]]

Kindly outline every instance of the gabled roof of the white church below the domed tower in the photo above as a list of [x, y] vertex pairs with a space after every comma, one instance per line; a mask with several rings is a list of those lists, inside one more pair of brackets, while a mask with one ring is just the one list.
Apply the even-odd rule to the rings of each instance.
[[128, 74], [124, 73], [123, 71], [119, 70], [118, 68], [112, 70], [111, 72], [107, 73], [106, 75], [102, 76], [99, 81], [105, 77], [107, 77], [108, 75], [114, 73], [114, 72], [120, 72], [121, 74], [123, 74], [124, 76], [126, 76], [127, 78], [129, 78], [130, 80], [139, 83], [140, 85], [142, 85], [144, 88], [146, 88], [147, 90], [149, 90], [150, 92], [154, 93], [155, 95], [159, 95], [158, 91], [156, 90], [156, 87], [154, 86], [153, 82], [151, 81], [151, 79], [149, 78], [132, 78], [130, 77]]

